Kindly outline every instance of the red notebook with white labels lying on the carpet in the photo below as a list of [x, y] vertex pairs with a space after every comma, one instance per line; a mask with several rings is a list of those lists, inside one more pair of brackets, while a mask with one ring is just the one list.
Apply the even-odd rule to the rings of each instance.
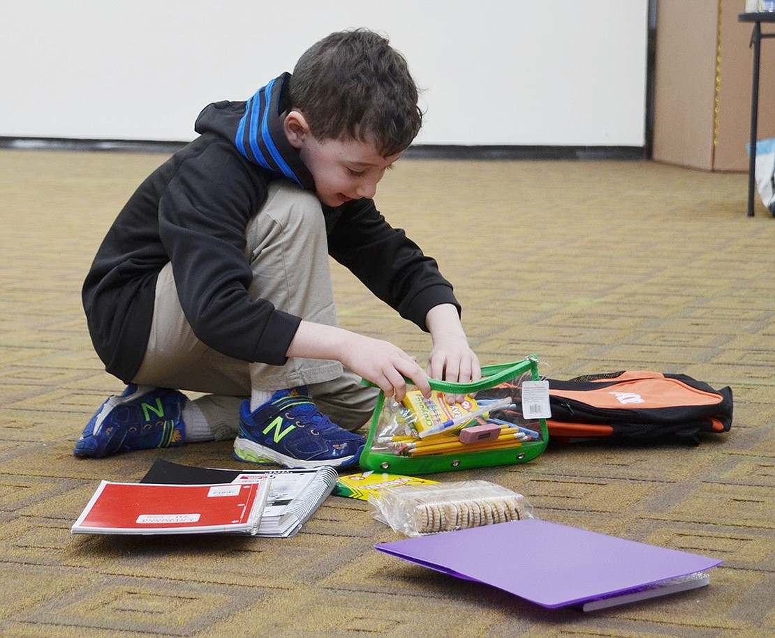
[[100, 482], [72, 533], [258, 533], [269, 480], [160, 485]]

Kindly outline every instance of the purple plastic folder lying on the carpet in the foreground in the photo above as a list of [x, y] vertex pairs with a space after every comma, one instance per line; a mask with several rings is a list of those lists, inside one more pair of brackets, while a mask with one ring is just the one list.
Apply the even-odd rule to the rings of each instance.
[[[549, 608], [632, 593], [722, 563], [539, 519], [396, 540], [375, 548]], [[707, 583], [706, 577], [701, 584]]]

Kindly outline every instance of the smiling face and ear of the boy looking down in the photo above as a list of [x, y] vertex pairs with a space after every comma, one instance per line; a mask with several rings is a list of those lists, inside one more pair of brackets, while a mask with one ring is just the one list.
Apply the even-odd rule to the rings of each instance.
[[357, 139], [315, 138], [298, 111], [286, 116], [285, 134], [315, 179], [315, 194], [323, 204], [341, 206], [372, 198], [385, 170], [401, 157], [383, 157], [373, 143]]

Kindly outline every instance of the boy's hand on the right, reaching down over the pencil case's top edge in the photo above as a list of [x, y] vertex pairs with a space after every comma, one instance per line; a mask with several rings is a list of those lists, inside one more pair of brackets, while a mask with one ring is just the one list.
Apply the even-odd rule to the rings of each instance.
[[[433, 348], [428, 355], [428, 375], [453, 383], [479, 381], [482, 376], [479, 358], [468, 345], [456, 307], [451, 304], [432, 307], [425, 323], [433, 338]], [[446, 399], [459, 403], [463, 396], [449, 395]]]

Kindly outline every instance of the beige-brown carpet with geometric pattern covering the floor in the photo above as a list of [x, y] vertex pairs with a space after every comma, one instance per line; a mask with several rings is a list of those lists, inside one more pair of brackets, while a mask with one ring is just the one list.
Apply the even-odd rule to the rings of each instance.
[[[710, 587], [595, 613], [546, 610], [374, 551], [400, 536], [367, 504], [333, 496], [286, 540], [71, 536], [101, 478], [139, 480], [157, 456], [239, 467], [229, 441], [71, 454], [122, 389], [91, 350], [81, 280], [163, 160], [0, 152], [0, 634], [775, 633], [775, 219], [761, 206], [746, 218], [740, 174], [402, 160], [377, 197], [456, 283], [482, 362], [536, 353], [558, 379], [654, 369], [732, 386], [732, 431], [698, 447], [555, 444], [529, 464], [435, 477], [485, 478], [522, 492], [545, 520], [722, 558]], [[335, 278], [341, 324], [424, 360], [425, 334], [349, 273]]]

